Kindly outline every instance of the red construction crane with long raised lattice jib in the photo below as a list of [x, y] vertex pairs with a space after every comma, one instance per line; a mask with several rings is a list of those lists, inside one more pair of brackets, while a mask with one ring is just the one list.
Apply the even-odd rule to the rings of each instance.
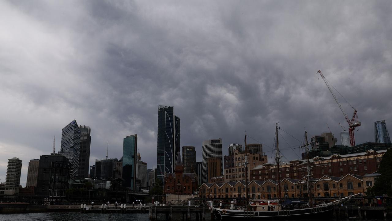
[[[351, 145], [352, 147], [355, 146], [354, 129], [355, 129], [356, 127], [361, 126], [361, 122], [358, 121], [357, 110], [356, 110], [352, 105], [350, 105], [350, 106], [352, 107], [352, 109], [354, 109], [354, 114], [352, 114], [352, 118], [351, 118], [351, 119], [348, 118], [346, 112], [343, 110], [342, 106], [340, 105], [340, 103], [339, 103], [339, 101], [338, 101], [338, 98], [336, 98], [334, 92], [332, 92], [332, 89], [331, 89], [331, 87], [330, 87], [330, 86], [332, 86], [332, 84], [329, 83], [329, 81], [327, 81], [327, 79], [325, 79], [323, 73], [321, 73], [320, 70], [319, 70], [317, 73], [320, 74], [321, 78], [324, 80], [325, 84], [327, 85], [328, 90], [331, 92], [331, 94], [332, 94], [332, 96], [334, 97], [336, 103], [339, 105], [339, 108], [340, 108], [340, 110], [342, 111], [342, 113], [343, 113], [343, 115], [344, 115], [344, 118], [346, 119], [346, 121], [347, 121], [347, 123], [348, 123], [348, 133], [350, 134], [350, 145]], [[329, 83], [329, 84], [328, 84], [328, 83]], [[332, 86], [332, 87], [334, 87], [334, 86]], [[335, 88], [334, 88], [334, 89], [335, 89]], [[335, 90], [336, 90], [336, 89], [335, 89]], [[336, 91], [338, 91], [338, 90], [336, 90]], [[339, 93], [339, 92], [338, 92], [338, 93]], [[340, 94], [340, 93], [339, 93], [339, 94]], [[340, 96], [341, 96], [341, 94], [340, 94]], [[343, 96], [342, 96], [342, 98], [343, 98]], [[343, 99], [345, 99], [345, 98], [343, 98]], [[345, 99], [345, 101], [348, 103], [348, 101], [347, 101], [346, 99]], [[350, 103], [348, 103], [348, 104], [350, 104]]]

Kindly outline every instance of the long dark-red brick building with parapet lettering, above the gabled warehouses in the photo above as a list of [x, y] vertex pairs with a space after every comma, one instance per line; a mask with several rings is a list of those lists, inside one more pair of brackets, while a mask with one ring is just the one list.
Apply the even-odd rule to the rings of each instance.
[[[347, 155], [334, 154], [330, 157], [314, 157], [309, 161], [312, 163], [310, 175], [321, 178], [324, 175], [333, 177], [344, 177], [348, 173], [364, 176], [378, 170], [381, 158], [387, 150], [368, 150], [362, 153]], [[279, 164], [280, 178], [301, 179], [307, 175], [306, 160], [292, 160]], [[251, 180], [276, 179], [276, 165], [263, 164], [250, 170]]]

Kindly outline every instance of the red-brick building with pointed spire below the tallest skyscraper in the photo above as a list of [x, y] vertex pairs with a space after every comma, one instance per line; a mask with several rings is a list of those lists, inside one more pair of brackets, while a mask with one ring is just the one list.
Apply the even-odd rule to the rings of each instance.
[[192, 195], [197, 188], [197, 176], [194, 173], [184, 173], [184, 166], [178, 153], [174, 173], [165, 173], [164, 193]]

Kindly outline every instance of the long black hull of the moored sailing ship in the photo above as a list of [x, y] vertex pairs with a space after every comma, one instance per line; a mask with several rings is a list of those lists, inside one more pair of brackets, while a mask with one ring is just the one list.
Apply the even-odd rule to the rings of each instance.
[[214, 209], [216, 220], [292, 220], [292, 219], [330, 219], [332, 217], [332, 206], [321, 206], [316, 208], [305, 208], [283, 211], [243, 211]]

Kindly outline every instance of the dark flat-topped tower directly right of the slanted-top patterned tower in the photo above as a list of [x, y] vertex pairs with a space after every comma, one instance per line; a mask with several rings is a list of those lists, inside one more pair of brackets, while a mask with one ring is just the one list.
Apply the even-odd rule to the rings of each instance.
[[91, 129], [80, 126], [79, 177], [88, 177], [90, 163]]

